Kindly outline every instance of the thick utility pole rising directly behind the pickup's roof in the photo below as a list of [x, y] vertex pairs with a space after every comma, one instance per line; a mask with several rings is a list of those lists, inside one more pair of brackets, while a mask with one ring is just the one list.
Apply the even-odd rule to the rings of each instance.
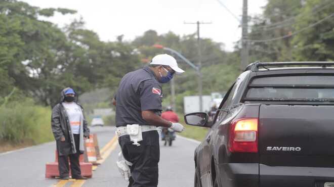
[[241, 35], [241, 71], [248, 65], [248, 0], [243, 0], [242, 5], [242, 35]]

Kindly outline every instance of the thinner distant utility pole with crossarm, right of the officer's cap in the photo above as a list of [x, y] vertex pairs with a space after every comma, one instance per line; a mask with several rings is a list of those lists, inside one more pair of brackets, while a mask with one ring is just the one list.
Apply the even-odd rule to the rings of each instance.
[[211, 22], [185, 22], [184, 24], [197, 24], [197, 47], [198, 47], [198, 96], [199, 96], [199, 111], [203, 111], [203, 102], [202, 102], [202, 90], [203, 90], [203, 81], [202, 81], [202, 73], [201, 73], [201, 66], [202, 66], [202, 54], [200, 49], [200, 36], [199, 36], [199, 25], [200, 24], [211, 24]]

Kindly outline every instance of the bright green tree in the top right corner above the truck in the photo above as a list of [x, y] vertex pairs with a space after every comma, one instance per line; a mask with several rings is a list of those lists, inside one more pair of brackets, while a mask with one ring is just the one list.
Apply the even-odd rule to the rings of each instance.
[[[318, 8], [321, 11], [314, 11]], [[309, 0], [297, 17], [296, 29], [309, 27], [298, 33], [292, 43], [294, 57], [298, 61], [334, 61], [334, 3], [325, 0]], [[317, 23], [317, 24], [316, 24]], [[313, 25], [316, 24], [316, 25]], [[313, 26], [312, 26], [313, 25]]]

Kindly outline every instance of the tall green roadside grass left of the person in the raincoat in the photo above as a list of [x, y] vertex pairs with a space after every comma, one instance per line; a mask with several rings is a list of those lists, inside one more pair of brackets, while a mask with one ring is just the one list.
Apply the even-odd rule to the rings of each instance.
[[51, 109], [31, 100], [0, 107], [0, 141], [40, 144], [52, 141]]

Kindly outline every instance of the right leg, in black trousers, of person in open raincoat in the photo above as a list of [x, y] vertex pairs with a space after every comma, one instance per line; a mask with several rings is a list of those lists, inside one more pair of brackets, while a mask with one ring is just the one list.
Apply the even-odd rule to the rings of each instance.
[[81, 176], [81, 170], [80, 170], [80, 163], [79, 163], [79, 157], [80, 157], [80, 151], [79, 151], [79, 141], [80, 137], [79, 134], [73, 134], [74, 142], [75, 142], [75, 154], [70, 154], [69, 159], [71, 163], [71, 174], [72, 178], [77, 178]]

